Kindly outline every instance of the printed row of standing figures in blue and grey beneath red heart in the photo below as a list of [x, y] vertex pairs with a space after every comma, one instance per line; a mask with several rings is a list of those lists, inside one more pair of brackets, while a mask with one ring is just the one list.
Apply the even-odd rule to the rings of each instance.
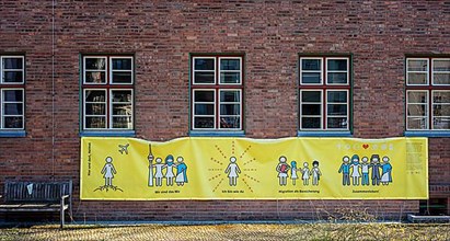
[[[381, 171], [381, 172], [380, 172]], [[361, 185], [369, 185], [369, 173], [372, 180], [372, 185], [378, 186], [389, 185], [392, 182], [392, 165], [389, 157], [383, 157], [380, 160], [379, 154], [372, 154], [370, 162], [368, 157], [362, 157], [359, 160], [358, 154], [354, 154], [351, 159], [348, 156], [343, 157], [343, 163], [338, 170], [338, 173], [343, 173], [343, 185], [350, 185], [350, 176], [354, 186], [359, 186], [361, 179]]]

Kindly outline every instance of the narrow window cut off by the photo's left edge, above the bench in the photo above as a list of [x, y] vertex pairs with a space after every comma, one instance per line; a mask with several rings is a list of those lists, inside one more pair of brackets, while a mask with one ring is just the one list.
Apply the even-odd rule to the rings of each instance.
[[0, 56], [0, 129], [25, 128], [25, 58]]

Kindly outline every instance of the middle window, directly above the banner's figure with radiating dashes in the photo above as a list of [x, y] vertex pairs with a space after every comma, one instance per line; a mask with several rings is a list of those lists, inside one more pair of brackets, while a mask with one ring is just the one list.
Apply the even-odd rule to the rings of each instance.
[[242, 56], [192, 57], [192, 130], [242, 130]]

